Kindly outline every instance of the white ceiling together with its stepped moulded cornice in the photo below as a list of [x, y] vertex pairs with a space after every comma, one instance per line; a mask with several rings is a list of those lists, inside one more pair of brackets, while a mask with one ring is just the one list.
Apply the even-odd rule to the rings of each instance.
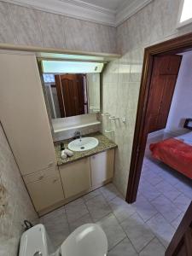
[[154, 0], [3, 0], [33, 9], [119, 26]]

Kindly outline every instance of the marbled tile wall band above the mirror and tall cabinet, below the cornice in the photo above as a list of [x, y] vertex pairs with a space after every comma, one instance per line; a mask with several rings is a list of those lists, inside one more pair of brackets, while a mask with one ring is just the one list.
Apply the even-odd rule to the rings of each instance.
[[0, 43], [116, 53], [116, 28], [0, 1]]

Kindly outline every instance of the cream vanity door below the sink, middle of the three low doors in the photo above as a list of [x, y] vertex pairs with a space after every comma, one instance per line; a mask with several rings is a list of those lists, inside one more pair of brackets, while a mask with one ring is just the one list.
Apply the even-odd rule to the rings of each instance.
[[60, 166], [59, 170], [66, 197], [90, 189], [90, 158]]

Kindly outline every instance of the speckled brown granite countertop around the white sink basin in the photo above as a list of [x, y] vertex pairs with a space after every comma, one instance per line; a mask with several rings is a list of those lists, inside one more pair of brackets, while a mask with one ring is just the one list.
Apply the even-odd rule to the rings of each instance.
[[61, 165], [67, 164], [69, 162], [73, 162], [75, 160], [79, 160], [79, 159], [82, 159], [84, 157], [88, 157], [90, 155], [106, 151], [106, 150], [111, 149], [111, 148], [117, 148], [117, 144], [110, 141], [108, 139], [108, 137], [105, 137], [100, 132], [89, 134], [89, 135], [87, 135], [87, 137], [96, 137], [99, 141], [98, 146], [96, 148], [93, 148], [93, 149], [90, 149], [90, 150], [85, 150], [85, 151], [80, 151], [80, 152], [73, 151], [73, 156], [67, 157], [67, 159], [64, 159], [64, 160], [61, 159], [60, 144], [64, 143], [65, 148], [67, 148], [68, 143], [72, 142], [73, 139], [69, 139], [69, 140], [66, 140], [66, 141], [61, 141], [61, 142], [55, 143], [55, 154], [56, 154], [56, 159], [57, 159], [57, 165], [61, 166]]

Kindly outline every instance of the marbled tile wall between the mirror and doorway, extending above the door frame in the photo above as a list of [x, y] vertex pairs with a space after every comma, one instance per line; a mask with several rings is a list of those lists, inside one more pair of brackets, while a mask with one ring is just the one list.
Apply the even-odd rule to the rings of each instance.
[[[119, 117], [119, 121], [102, 118], [102, 131], [113, 129], [108, 135], [116, 143], [114, 183], [125, 195], [131, 161], [131, 148], [137, 114], [137, 99], [143, 66], [143, 52], [146, 46], [160, 43], [192, 32], [192, 26], [177, 29], [177, 13], [180, 0], [154, 0], [118, 27], [117, 42], [123, 55], [113, 61], [103, 74], [103, 112]], [[126, 124], [121, 120], [127, 118]]]

